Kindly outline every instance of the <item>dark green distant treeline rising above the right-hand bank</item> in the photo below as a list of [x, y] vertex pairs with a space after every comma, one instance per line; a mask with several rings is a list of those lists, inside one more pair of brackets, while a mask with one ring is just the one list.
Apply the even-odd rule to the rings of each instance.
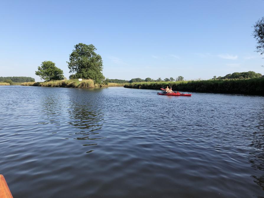
[[212, 79], [250, 79], [250, 78], [261, 78], [263, 77], [261, 73], [256, 73], [255, 71], [248, 71], [248, 72], [234, 72], [234, 73], [229, 73], [225, 75], [224, 77], [219, 76], [216, 78], [214, 76]]

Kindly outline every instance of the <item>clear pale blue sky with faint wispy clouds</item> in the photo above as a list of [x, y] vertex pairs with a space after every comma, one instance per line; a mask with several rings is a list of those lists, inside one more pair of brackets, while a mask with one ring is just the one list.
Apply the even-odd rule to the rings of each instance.
[[0, 76], [35, 76], [51, 60], [69, 77], [74, 45], [93, 44], [108, 78], [264, 74], [253, 24], [262, 0], [2, 1]]

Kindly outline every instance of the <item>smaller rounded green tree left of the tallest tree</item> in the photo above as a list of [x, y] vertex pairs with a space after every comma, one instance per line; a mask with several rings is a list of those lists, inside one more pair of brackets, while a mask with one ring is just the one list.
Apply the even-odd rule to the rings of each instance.
[[55, 66], [52, 61], [44, 61], [38, 66], [38, 71], [35, 71], [37, 76], [40, 78], [51, 81], [51, 80], [63, 80], [63, 71]]

